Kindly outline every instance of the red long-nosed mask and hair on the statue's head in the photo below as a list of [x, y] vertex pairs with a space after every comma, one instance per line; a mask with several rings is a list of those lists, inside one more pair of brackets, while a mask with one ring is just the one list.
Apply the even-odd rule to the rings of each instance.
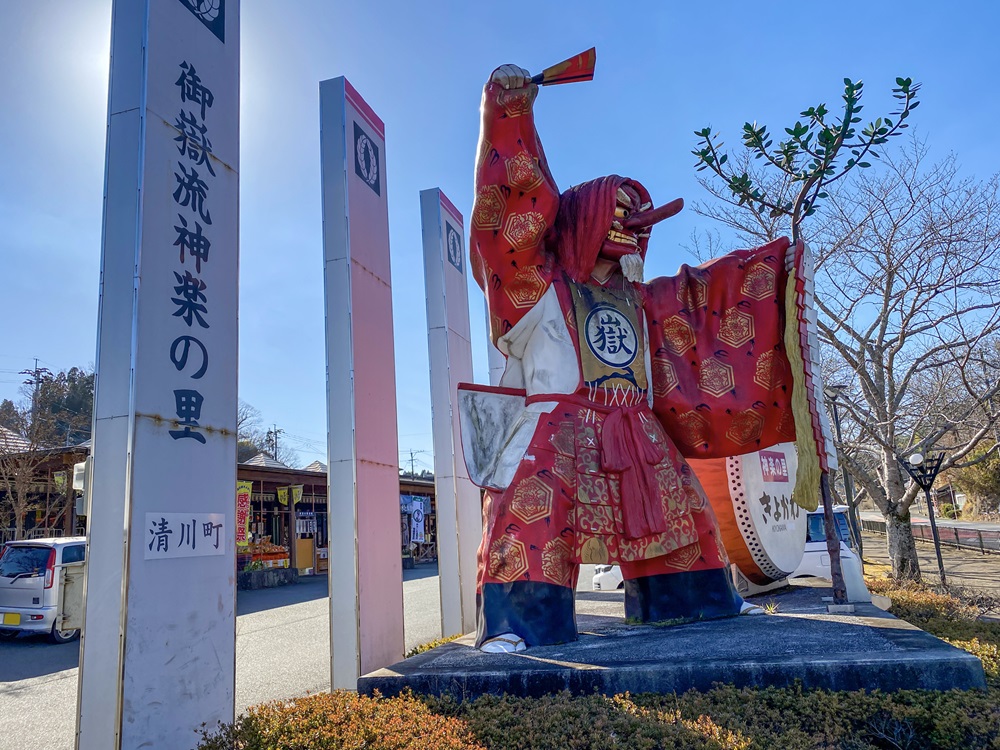
[[683, 207], [677, 198], [654, 208], [641, 183], [618, 175], [584, 182], [559, 196], [549, 249], [574, 281], [585, 282], [600, 261], [641, 281], [650, 229]]

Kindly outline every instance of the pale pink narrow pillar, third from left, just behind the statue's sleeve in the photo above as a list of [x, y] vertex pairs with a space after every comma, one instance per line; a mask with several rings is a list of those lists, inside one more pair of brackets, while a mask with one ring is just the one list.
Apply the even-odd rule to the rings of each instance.
[[469, 479], [459, 427], [458, 384], [471, 383], [469, 280], [462, 214], [439, 189], [420, 193], [427, 351], [434, 430], [434, 487], [441, 571], [442, 632], [476, 627], [476, 551], [482, 536], [479, 488]]

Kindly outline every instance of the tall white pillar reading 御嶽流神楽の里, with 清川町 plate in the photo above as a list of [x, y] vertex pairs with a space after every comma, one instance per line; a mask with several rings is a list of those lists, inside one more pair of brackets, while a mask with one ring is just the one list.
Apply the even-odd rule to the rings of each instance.
[[80, 750], [233, 718], [239, 19], [113, 5]]

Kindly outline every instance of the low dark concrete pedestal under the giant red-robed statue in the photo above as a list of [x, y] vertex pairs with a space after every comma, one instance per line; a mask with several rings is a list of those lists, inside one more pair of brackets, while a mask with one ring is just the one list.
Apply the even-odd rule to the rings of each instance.
[[787, 687], [827, 690], [984, 688], [982, 665], [966, 653], [867, 603], [829, 614], [825, 582], [795, 582], [768, 594], [774, 614], [661, 627], [626, 625], [621, 593], [578, 592], [580, 639], [518, 654], [484, 654], [466, 635], [358, 681], [359, 692], [394, 695], [492, 693], [539, 696], [560, 690], [707, 690]]

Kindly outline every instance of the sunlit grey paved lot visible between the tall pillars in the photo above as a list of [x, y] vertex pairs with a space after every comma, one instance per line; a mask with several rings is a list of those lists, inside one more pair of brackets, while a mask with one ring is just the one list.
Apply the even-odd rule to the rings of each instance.
[[[441, 637], [437, 567], [406, 570], [406, 648]], [[325, 577], [241, 591], [236, 617], [236, 708], [330, 688], [330, 613]], [[0, 642], [0, 750], [71, 750], [79, 641]], [[192, 743], [193, 744], [193, 743]]]

